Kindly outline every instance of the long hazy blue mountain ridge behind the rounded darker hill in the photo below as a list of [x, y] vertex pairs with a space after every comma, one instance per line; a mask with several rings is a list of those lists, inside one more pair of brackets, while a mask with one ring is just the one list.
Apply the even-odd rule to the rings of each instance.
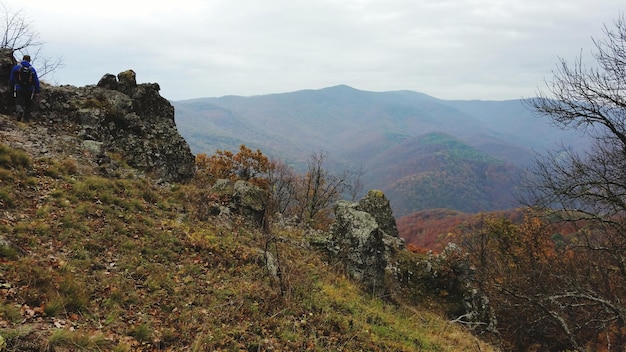
[[[364, 188], [385, 191], [391, 190], [399, 177], [390, 179], [393, 175], [385, 175], [383, 179], [375, 175], [402, 166], [389, 165], [385, 155], [400, 151], [412, 139], [429, 133], [448, 134], [476, 152], [509, 164], [511, 170], [521, 170], [534, 160], [536, 151], [556, 148], [560, 142], [574, 149], [584, 146], [580, 145], [580, 136], [538, 119], [521, 100], [443, 100], [409, 90], [369, 92], [338, 85], [172, 103], [181, 134], [196, 153], [236, 150], [245, 143], [297, 167], [305, 165], [312, 153], [324, 151], [331, 170], [362, 169]], [[407, 158], [423, 159], [422, 156]], [[416, 162], [397, 160], [399, 164]], [[445, 171], [449, 165], [438, 167]], [[419, 177], [414, 179], [419, 184]], [[511, 194], [512, 185], [506, 187], [501, 193]], [[420, 210], [398, 205], [410, 203], [403, 197], [403, 192], [391, 192], [394, 212], [407, 214]], [[447, 205], [433, 204], [435, 208], [444, 206]], [[476, 212], [502, 206], [500, 200], [486, 199], [483, 204], [457, 210]]]

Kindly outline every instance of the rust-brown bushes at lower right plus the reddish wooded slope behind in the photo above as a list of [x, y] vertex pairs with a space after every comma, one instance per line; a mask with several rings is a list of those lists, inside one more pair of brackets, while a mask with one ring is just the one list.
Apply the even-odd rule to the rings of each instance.
[[594, 221], [563, 221], [579, 216], [435, 209], [399, 219], [398, 228], [413, 252], [439, 252], [454, 242], [468, 254], [475, 287], [496, 313], [503, 350], [609, 350], [626, 344], [619, 304], [626, 276], [602, 249], [618, 237]]

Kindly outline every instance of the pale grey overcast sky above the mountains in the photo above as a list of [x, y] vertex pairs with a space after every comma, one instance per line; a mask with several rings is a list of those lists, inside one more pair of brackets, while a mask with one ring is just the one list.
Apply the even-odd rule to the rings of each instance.
[[[126, 69], [170, 100], [347, 84], [442, 99], [533, 96], [624, 0], [0, 0], [62, 57], [56, 84]], [[37, 67], [37, 62], [35, 62]]]

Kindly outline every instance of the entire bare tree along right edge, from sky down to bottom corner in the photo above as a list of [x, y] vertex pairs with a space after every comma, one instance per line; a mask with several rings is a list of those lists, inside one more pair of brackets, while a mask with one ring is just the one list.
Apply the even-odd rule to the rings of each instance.
[[568, 149], [548, 153], [525, 180], [528, 205], [549, 210], [552, 219], [576, 224], [579, 231], [569, 247], [574, 253], [569, 270], [551, 273], [550, 280], [560, 285], [552, 285], [550, 293], [518, 292], [517, 298], [558, 322], [569, 339], [567, 347], [576, 350], [590, 338], [576, 330], [583, 322], [587, 331], [604, 331], [607, 340], [613, 334], [612, 343], [624, 343], [624, 336], [615, 332], [625, 328], [626, 320], [624, 15], [614, 27], [605, 25], [604, 34], [604, 40], [593, 40], [594, 65], [585, 65], [582, 54], [573, 64], [561, 59], [553, 78], [546, 81], [547, 90], [526, 100], [537, 115], [560, 128], [585, 133], [593, 144], [580, 154]]

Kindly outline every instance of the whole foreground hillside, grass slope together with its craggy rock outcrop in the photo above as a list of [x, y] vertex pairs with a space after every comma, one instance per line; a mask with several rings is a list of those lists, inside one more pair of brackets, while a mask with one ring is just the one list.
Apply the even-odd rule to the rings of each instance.
[[127, 71], [0, 115], [0, 350], [495, 350], [450, 322], [474, 299], [455, 264], [390, 252], [368, 290], [336, 233], [259, 226], [197, 183], [170, 113]]

